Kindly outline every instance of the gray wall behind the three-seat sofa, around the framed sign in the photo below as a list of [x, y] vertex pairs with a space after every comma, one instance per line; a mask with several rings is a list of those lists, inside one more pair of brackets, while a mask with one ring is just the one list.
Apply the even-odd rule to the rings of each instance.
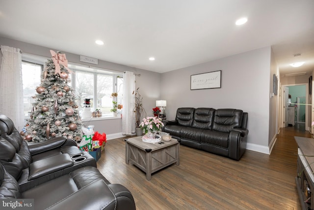
[[[179, 107], [235, 108], [248, 112], [248, 149], [267, 153], [271, 48], [230, 56], [161, 74], [167, 120]], [[190, 76], [222, 70], [220, 89], [190, 90]], [[272, 81], [272, 80], [271, 80]]]

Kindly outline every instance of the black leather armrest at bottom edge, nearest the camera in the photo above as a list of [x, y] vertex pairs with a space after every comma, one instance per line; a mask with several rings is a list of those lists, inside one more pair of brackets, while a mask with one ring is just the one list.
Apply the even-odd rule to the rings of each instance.
[[[124, 188], [124, 191], [128, 190]], [[116, 207], [118, 207], [118, 210], [123, 209], [123, 207], [127, 207], [129, 210], [135, 210], [134, 200], [128, 197], [122, 198], [121, 196], [114, 195], [104, 180], [97, 180], [55, 203], [47, 208], [47, 210], [111, 210]]]

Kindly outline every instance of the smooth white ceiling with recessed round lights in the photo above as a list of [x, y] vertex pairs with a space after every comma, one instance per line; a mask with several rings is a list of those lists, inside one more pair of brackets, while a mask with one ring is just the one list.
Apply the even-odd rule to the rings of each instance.
[[310, 73], [314, 0], [0, 0], [0, 36], [160, 73], [272, 46]]

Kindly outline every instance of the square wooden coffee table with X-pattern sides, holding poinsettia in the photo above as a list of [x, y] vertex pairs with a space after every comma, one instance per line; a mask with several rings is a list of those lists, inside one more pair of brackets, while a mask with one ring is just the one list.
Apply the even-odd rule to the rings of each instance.
[[169, 142], [145, 143], [141, 136], [126, 139], [126, 163], [133, 163], [146, 173], [146, 179], [151, 180], [152, 173], [173, 163], [180, 164], [179, 142], [171, 139]]

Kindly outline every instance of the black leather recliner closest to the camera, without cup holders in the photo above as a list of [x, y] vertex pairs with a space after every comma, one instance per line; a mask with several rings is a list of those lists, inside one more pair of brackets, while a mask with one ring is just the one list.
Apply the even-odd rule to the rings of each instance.
[[0, 199], [34, 199], [35, 210], [135, 210], [131, 192], [91, 166], [22, 192], [0, 164]]

